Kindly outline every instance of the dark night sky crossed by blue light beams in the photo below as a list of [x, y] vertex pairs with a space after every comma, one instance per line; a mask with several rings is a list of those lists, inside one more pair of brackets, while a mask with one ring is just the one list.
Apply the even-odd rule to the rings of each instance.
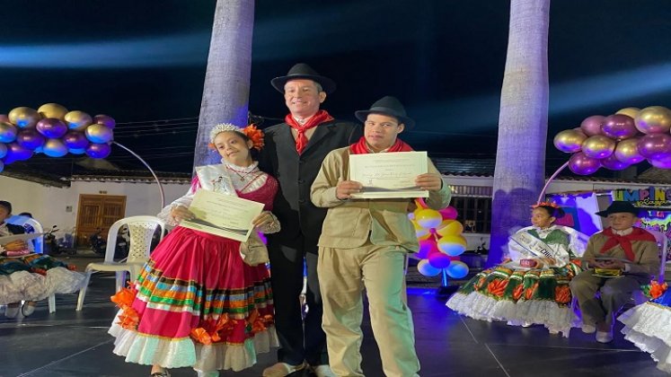
[[[0, 113], [57, 102], [108, 114], [126, 123], [115, 139], [156, 170], [190, 171], [214, 6], [5, 2]], [[323, 106], [336, 118], [353, 120], [354, 110], [391, 94], [418, 123], [403, 136], [415, 149], [493, 158], [508, 12], [501, 0], [258, 1], [250, 111], [267, 118], [263, 127], [283, 118], [284, 100], [269, 81], [305, 62], [339, 84]], [[549, 171], [569, 157], [552, 136], [583, 118], [671, 107], [671, 4], [561, 0], [550, 20]], [[159, 119], [172, 120], [152, 122]], [[141, 167], [116, 147], [109, 160]]]

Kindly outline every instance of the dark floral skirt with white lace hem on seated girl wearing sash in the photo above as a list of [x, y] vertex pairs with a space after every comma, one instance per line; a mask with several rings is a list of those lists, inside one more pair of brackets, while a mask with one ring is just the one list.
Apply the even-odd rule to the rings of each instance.
[[542, 324], [568, 337], [570, 328], [577, 325], [569, 282], [579, 271], [572, 262], [544, 269], [499, 265], [473, 276], [446, 305], [476, 320]]

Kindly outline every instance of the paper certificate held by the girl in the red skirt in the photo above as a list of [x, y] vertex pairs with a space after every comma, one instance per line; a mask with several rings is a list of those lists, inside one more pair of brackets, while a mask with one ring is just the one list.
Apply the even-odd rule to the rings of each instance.
[[189, 210], [196, 215], [181, 226], [245, 242], [253, 231], [252, 220], [263, 204], [205, 189], [198, 190]]

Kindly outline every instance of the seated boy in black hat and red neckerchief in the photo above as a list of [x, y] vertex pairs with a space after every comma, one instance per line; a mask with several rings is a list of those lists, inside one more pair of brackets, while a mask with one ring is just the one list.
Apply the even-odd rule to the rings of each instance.
[[[614, 201], [596, 215], [610, 226], [590, 237], [583, 255], [589, 269], [570, 282], [578, 299], [582, 330], [596, 331], [596, 341], [613, 340], [614, 318], [640, 285], [649, 284], [659, 271], [659, 249], [655, 237], [638, 227], [639, 210], [631, 202]], [[607, 274], [607, 275], [605, 275]], [[599, 292], [599, 297], [596, 293]]]

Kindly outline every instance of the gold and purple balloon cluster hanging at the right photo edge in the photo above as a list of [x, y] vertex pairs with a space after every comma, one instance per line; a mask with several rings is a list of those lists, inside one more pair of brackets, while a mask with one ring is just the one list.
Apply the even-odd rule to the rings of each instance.
[[621, 171], [648, 160], [652, 166], [671, 169], [671, 110], [650, 106], [624, 108], [613, 115], [593, 115], [580, 127], [554, 136], [554, 146], [573, 153], [569, 169], [589, 175], [602, 166]]

